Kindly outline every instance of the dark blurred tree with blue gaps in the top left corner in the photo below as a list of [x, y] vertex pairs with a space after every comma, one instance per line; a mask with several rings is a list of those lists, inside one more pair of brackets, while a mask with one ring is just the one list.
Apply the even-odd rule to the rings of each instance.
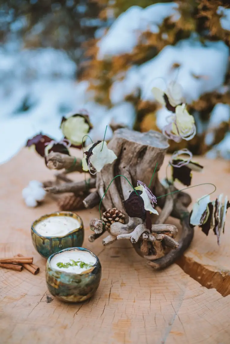
[[65, 50], [79, 62], [82, 43], [106, 23], [98, 18], [99, 6], [90, 0], [9, 0], [0, 4], [0, 38], [22, 39], [26, 48]]

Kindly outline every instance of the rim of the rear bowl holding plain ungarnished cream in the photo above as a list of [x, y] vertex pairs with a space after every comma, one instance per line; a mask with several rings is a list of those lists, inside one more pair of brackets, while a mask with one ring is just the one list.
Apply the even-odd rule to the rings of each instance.
[[[34, 225], [36, 225], [37, 223], [39, 223], [43, 219], [46, 219], [46, 218], [52, 217], [52, 216], [53, 217], [54, 216], [69, 216], [69, 217], [73, 217], [76, 220], [78, 220], [78, 222], [80, 222], [80, 226], [78, 228], [76, 228], [76, 229], [71, 230], [71, 232], [69, 232], [69, 233], [67, 233], [65, 235], [62, 235], [62, 236], [43, 236], [43, 235], [40, 235], [37, 232], [37, 230], [34, 228]], [[52, 212], [52, 213], [49, 213], [49, 214], [44, 214], [44, 215], [40, 216], [39, 218], [37, 218], [36, 220], [34, 220], [32, 225], [31, 225], [31, 231], [34, 232], [36, 235], [38, 235], [42, 239], [64, 238], [67, 235], [70, 235], [70, 234], [72, 234], [74, 232], [78, 232], [80, 229], [84, 229], [82, 218], [78, 214], [75, 214], [73, 212], [68, 212], [68, 211], [57, 211], [57, 212]]]

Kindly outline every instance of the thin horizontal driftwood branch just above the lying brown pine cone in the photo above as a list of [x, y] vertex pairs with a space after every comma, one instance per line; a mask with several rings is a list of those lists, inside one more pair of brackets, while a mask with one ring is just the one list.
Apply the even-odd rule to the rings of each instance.
[[85, 191], [88, 189], [93, 189], [95, 187], [96, 180], [95, 179], [89, 179], [89, 181], [81, 181], [81, 182], [72, 182], [72, 183], [64, 183], [60, 185], [54, 185], [51, 187], [46, 187], [44, 190], [50, 193], [58, 194], [63, 192], [79, 192], [79, 191]]

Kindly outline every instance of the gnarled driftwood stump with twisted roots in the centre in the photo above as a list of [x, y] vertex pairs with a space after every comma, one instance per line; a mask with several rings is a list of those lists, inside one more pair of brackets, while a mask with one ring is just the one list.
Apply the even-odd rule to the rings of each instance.
[[[156, 173], [152, 180], [152, 189], [159, 198], [158, 205], [162, 212], [152, 225], [151, 231], [140, 218], [130, 218], [126, 213], [123, 201], [129, 197], [132, 187], [126, 179], [116, 178], [110, 185], [102, 203], [106, 209], [116, 207], [126, 216], [126, 224], [113, 223], [108, 232], [109, 235], [102, 240], [103, 245], [108, 245], [116, 240], [129, 239], [137, 253], [149, 260], [148, 264], [155, 269], [162, 269], [171, 265], [190, 245], [193, 237], [193, 228], [189, 226], [189, 212], [187, 206], [191, 203], [191, 197], [183, 192], [174, 193], [174, 186], [166, 189], [158, 180], [157, 171], [160, 169], [164, 155], [168, 148], [167, 139], [160, 133], [149, 131], [139, 133], [128, 129], [119, 129], [114, 133], [113, 139], [108, 144], [117, 155], [112, 164], [104, 166], [100, 173], [97, 173], [97, 191], [87, 196], [84, 200], [86, 207], [93, 207], [100, 202], [105, 190], [111, 180], [116, 175], [123, 175], [134, 186], [137, 180], [149, 184], [153, 169], [157, 163]], [[170, 216], [181, 219], [183, 233], [179, 243], [175, 240], [178, 233], [177, 227], [164, 224]], [[94, 240], [104, 233], [104, 228], [100, 220], [91, 222], [91, 229], [95, 230], [95, 235], [91, 235], [89, 240]], [[99, 228], [99, 229], [98, 229]]]

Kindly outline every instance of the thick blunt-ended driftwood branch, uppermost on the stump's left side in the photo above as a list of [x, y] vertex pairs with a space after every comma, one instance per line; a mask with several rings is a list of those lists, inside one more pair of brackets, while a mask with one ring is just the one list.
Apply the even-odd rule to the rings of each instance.
[[71, 172], [84, 172], [82, 170], [82, 161], [72, 155], [51, 152], [46, 157], [46, 164], [50, 170], [70, 170]]

